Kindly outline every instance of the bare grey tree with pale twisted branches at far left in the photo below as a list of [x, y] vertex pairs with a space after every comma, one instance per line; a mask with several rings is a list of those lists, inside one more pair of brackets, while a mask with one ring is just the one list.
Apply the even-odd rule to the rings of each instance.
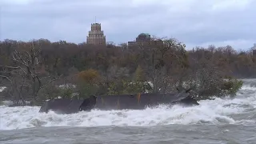
[[11, 90], [14, 90], [12, 93], [14, 101], [18, 102], [21, 99], [22, 105], [24, 102], [22, 90], [26, 89], [28, 96], [36, 102], [39, 90], [57, 79], [40, 71], [42, 49], [39, 44], [39, 42], [30, 42], [30, 46], [26, 47], [27, 50], [15, 49], [12, 60], [16, 66], [2, 66], [7, 75], [2, 74], [1, 77], [10, 82]]

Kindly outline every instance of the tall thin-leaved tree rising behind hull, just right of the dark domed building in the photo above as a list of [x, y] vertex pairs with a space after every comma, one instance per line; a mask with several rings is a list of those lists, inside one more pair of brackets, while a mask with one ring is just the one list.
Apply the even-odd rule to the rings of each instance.
[[154, 38], [148, 43], [142, 42], [138, 47], [141, 50], [142, 66], [147, 66], [147, 75], [153, 83], [153, 92], [165, 93], [170, 83], [174, 84], [170, 76], [173, 66], [186, 66], [185, 45], [175, 39], [162, 41], [161, 38]]

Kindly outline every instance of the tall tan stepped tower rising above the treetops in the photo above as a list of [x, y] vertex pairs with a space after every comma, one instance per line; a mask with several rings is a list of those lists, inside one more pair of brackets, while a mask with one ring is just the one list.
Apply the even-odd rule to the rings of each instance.
[[91, 30], [87, 36], [87, 44], [106, 45], [106, 36], [103, 33], [100, 23], [92, 23]]

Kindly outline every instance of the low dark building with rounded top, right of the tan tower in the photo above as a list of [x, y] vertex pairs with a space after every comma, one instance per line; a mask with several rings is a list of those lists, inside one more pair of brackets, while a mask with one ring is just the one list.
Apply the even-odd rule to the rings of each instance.
[[128, 42], [128, 46], [156, 46], [162, 45], [162, 40], [153, 40], [150, 34], [139, 34], [135, 42]]

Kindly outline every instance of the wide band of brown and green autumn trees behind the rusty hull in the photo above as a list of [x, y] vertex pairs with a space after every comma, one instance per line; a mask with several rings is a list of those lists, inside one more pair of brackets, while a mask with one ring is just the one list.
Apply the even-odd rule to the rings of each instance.
[[[199, 95], [225, 95], [241, 87], [234, 78], [256, 78], [256, 57], [252, 50], [236, 51], [231, 46], [186, 50], [176, 39], [133, 47], [5, 40], [0, 42], [0, 78], [0, 85], [7, 86], [2, 97], [15, 102], [74, 94], [85, 98], [90, 94], [166, 93], [177, 86], [193, 87]], [[65, 86], [56, 87], [60, 85]]]

